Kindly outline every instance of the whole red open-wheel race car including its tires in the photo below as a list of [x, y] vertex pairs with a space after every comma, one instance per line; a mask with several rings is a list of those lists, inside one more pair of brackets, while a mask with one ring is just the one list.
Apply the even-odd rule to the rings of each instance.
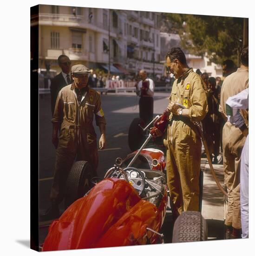
[[[95, 186], [52, 222], [43, 251], [163, 243], [159, 232], [170, 206], [165, 157], [159, 149], [144, 149], [150, 138], [123, 161], [117, 158], [102, 181], [91, 179]], [[87, 162], [75, 162], [67, 182], [74, 185], [67, 191], [76, 197], [85, 193], [89, 169]], [[71, 197], [66, 196], [66, 206], [76, 199]], [[200, 212], [181, 214], [173, 232], [173, 242], [207, 239]]]

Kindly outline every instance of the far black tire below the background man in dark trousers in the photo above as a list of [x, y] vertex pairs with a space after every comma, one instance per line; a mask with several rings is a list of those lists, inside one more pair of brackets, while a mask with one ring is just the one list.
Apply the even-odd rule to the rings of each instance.
[[131, 122], [128, 130], [128, 145], [131, 151], [141, 148], [145, 140], [144, 131], [139, 125], [145, 127], [143, 119], [137, 117]]

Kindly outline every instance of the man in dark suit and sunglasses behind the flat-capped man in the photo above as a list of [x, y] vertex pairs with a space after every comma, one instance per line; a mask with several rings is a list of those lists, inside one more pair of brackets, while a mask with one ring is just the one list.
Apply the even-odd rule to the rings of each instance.
[[51, 82], [51, 107], [52, 107], [52, 115], [54, 113], [56, 100], [59, 94], [59, 91], [72, 83], [71, 76], [71, 61], [66, 55], [60, 55], [58, 58], [59, 67], [61, 68], [61, 72], [56, 75]]

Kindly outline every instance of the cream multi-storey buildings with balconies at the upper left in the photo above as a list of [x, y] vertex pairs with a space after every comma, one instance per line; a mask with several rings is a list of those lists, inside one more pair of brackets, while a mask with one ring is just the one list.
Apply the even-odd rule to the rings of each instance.
[[[110, 29], [109, 29], [110, 15]], [[58, 56], [89, 68], [109, 65], [111, 74], [144, 68], [163, 74], [160, 61], [160, 13], [39, 5], [39, 67], [60, 72]], [[109, 47], [110, 30], [110, 47]], [[154, 61], [153, 61], [154, 57]]]

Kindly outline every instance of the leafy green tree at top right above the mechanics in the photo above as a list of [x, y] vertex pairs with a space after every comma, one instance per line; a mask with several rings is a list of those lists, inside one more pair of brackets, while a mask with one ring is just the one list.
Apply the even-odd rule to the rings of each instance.
[[243, 19], [193, 14], [164, 13], [171, 33], [178, 33], [181, 46], [190, 54], [208, 54], [210, 61], [222, 64], [226, 59], [238, 63], [242, 47]]

